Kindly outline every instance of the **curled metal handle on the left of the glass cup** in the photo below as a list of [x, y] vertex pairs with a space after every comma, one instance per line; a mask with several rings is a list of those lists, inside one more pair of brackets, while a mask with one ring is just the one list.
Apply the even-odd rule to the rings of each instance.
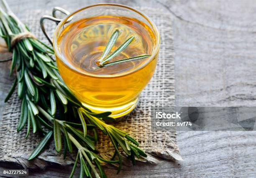
[[[51, 40], [50, 36], [47, 34], [47, 32], [46, 32], [46, 30], [44, 28], [44, 20], [47, 19], [47, 20], [54, 21], [58, 25], [61, 22], [61, 20], [63, 20], [63, 19], [56, 18], [56, 11], [59, 11], [59, 12], [65, 14], [65, 15], [69, 15], [70, 14], [69, 11], [67, 11], [67, 10], [65, 10], [63, 8], [55, 7], [52, 10], [52, 16], [50, 16], [50, 15], [43, 15], [41, 17], [41, 19], [40, 19], [41, 30], [43, 31], [44, 35], [46, 36], [47, 40], [51, 43], [51, 45], [53, 45], [53, 43], [52, 43], [52, 40]], [[68, 19], [66, 23], [70, 22], [71, 20], [72, 20], [72, 18]]]

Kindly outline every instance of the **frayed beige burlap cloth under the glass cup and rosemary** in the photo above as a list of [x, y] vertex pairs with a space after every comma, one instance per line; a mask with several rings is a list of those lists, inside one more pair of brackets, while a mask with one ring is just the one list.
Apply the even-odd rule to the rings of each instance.
[[[179, 149], [176, 145], [176, 132], [153, 132], [151, 131], [151, 106], [174, 106], [174, 50], [172, 36], [171, 15], [161, 9], [140, 8], [144, 13], [152, 18], [161, 35], [161, 48], [154, 77], [148, 86], [141, 93], [138, 107], [130, 115], [114, 125], [131, 133], [131, 136], [138, 140], [140, 148], [150, 154], [147, 160], [157, 163], [157, 157], [164, 159], [181, 160]], [[39, 18], [41, 15], [50, 14], [45, 11], [32, 11], [24, 19], [32, 33], [40, 40], [46, 42], [46, 38], [41, 32]], [[53, 32], [54, 23], [47, 23], [48, 32]], [[14, 162], [25, 168], [44, 168], [49, 163], [69, 165], [73, 163], [72, 156], [63, 160], [62, 153], [57, 154], [54, 150], [53, 141], [38, 156], [38, 158], [28, 161], [27, 158], [32, 150], [41, 140], [37, 134], [31, 133], [25, 139], [26, 128], [17, 133], [16, 127], [20, 116], [20, 100], [17, 95], [13, 95], [8, 101], [3, 113], [2, 125], [0, 127], [0, 161]], [[100, 135], [97, 150], [103, 157], [108, 157], [113, 151], [110, 140], [105, 135]]]

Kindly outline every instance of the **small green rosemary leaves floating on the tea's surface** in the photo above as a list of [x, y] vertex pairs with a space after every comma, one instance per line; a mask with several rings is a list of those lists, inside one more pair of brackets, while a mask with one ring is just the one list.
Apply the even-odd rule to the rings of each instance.
[[115, 32], [111, 35], [110, 40], [108, 41], [108, 44], [104, 52], [102, 53], [102, 56], [98, 60], [98, 62], [100, 62], [100, 65], [97, 67], [94, 67], [93, 69], [102, 68], [110, 65], [119, 64], [119, 63], [125, 63], [133, 60], [140, 60], [140, 59], [148, 58], [149, 56], [151, 56], [151, 55], [140, 55], [132, 58], [126, 58], [126, 59], [116, 60], [116, 61], [107, 63], [109, 60], [113, 59], [116, 55], [118, 55], [123, 50], [125, 50], [125, 48], [127, 48], [127, 46], [130, 45], [130, 43], [134, 39], [133, 36], [131, 38], [128, 38], [128, 40], [126, 40], [122, 45], [120, 45], [120, 47], [117, 50], [115, 50], [108, 57], [106, 57], [108, 53], [111, 51], [111, 49], [113, 48], [113, 46], [115, 45], [118, 35], [119, 35], [119, 30], [115, 30]]

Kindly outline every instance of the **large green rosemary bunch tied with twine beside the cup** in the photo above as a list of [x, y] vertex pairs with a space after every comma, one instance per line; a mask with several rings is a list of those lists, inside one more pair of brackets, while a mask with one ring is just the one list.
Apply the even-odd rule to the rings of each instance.
[[[78, 160], [81, 177], [84, 174], [92, 177], [92, 173], [95, 177], [106, 177], [102, 163], [119, 164], [119, 172], [122, 165], [119, 149], [125, 152], [133, 164], [135, 157], [146, 157], [137, 147], [136, 140], [128, 133], [105, 123], [104, 120], [113, 120], [109, 117], [111, 112], [93, 113], [82, 105], [61, 79], [56, 63], [49, 55], [53, 50], [33, 37], [28, 28], [12, 13], [5, 0], [0, 2], [0, 36], [4, 38], [9, 51], [13, 52], [10, 74], [16, 73], [5, 101], [17, 87], [18, 97], [22, 100], [17, 130], [23, 130], [27, 125], [26, 138], [31, 130], [44, 135], [28, 159], [36, 158], [51, 138], [54, 138], [56, 151], [63, 150], [64, 158], [67, 152], [73, 152], [73, 146], [77, 148], [77, 158], [70, 177], [74, 175]], [[93, 135], [87, 132], [91, 129]], [[115, 153], [111, 160], [97, 155], [97, 129], [108, 135], [113, 143]]]

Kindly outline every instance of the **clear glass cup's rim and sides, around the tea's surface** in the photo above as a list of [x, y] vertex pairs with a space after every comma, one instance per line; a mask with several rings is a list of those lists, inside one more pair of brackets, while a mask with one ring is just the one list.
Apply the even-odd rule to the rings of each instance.
[[[146, 30], [150, 30], [152, 34], [153, 44], [151, 44], [151, 56], [142, 65], [123, 73], [98, 75], [86, 73], [69, 63], [59, 45], [61, 32], [78, 20], [103, 15], [133, 18], [146, 24]], [[59, 73], [69, 89], [85, 107], [95, 113], [110, 111], [112, 112], [110, 117], [113, 118], [122, 117], [136, 107], [141, 91], [154, 74], [159, 43], [159, 32], [146, 15], [128, 6], [117, 4], [92, 5], [68, 15], [57, 26], [53, 40]]]

